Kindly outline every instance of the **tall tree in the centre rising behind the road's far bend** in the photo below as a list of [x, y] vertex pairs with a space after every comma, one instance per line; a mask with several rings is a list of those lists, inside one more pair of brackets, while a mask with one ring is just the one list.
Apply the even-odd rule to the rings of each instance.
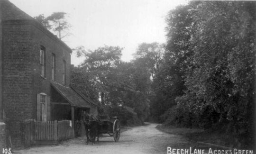
[[[159, 43], [142, 43], [138, 45], [137, 51], [134, 54], [134, 77], [137, 91], [144, 97], [144, 107], [151, 112], [154, 117], [159, 117], [157, 113], [163, 113], [161, 107], [162, 102], [158, 100], [158, 91], [154, 86], [157, 74], [163, 65], [164, 45]], [[160, 94], [161, 95], [161, 94]], [[150, 109], [149, 109], [150, 107]], [[156, 113], [157, 112], [157, 113]], [[144, 115], [144, 117], [148, 117]]]

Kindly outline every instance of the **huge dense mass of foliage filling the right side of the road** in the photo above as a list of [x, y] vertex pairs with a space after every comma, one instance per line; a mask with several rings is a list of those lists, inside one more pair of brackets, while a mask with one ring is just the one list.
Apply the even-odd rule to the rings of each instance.
[[162, 74], [162, 79], [183, 85], [184, 93], [175, 94], [177, 106], [166, 112], [167, 120], [204, 128], [226, 123], [223, 130], [251, 138], [255, 8], [252, 1], [192, 1], [170, 11], [165, 54], [170, 73]]

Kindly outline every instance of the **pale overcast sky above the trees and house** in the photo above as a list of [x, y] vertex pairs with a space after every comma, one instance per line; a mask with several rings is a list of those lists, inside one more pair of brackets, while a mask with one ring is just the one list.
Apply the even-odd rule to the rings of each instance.
[[[75, 48], [95, 50], [104, 45], [123, 47], [122, 60], [130, 61], [141, 43], [165, 43], [165, 17], [188, 0], [9, 0], [35, 17], [65, 12], [71, 24], [64, 42]], [[82, 63], [73, 52], [71, 63]]]

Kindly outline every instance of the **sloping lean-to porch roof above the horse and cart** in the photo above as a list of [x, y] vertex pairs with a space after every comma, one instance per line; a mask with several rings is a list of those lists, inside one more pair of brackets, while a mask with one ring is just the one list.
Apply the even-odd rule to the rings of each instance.
[[80, 96], [76, 91], [70, 87], [66, 87], [57, 82], [51, 82], [52, 87], [58, 91], [65, 100], [67, 100], [71, 106], [80, 107], [80, 108], [90, 108], [91, 102], [85, 100]]

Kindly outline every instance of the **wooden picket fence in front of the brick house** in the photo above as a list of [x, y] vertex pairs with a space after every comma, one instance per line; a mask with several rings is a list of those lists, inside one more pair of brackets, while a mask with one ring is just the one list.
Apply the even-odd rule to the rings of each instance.
[[52, 145], [73, 138], [74, 128], [70, 120], [47, 122], [26, 120], [21, 123], [21, 133], [25, 147], [33, 144]]

